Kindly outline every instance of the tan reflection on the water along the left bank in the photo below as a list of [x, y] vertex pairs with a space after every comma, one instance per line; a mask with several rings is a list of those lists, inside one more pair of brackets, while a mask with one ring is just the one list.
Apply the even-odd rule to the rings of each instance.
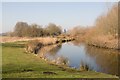
[[58, 65], [68, 65], [67, 58], [64, 56], [57, 56], [57, 52], [61, 49], [61, 47], [62, 44], [44, 46], [39, 50], [38, 56]]

